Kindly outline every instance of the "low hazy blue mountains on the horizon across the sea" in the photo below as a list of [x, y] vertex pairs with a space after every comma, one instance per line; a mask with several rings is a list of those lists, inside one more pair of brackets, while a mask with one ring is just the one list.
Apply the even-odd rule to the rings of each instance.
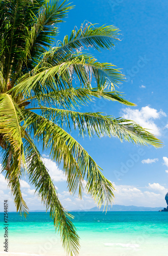
[[[103, 211], [104, 206], [101, 206], [99, 209], [98, 207], [93, 207], [88, 210], [73, 210], [73, 211]], [[125, 205], [118, 205], [114, 204], [112, 207], [108, 206], [107, 211], [158, 211], [160, 209], [163, 209], [163, 207], [143, 207], [143, 206], [125, 206]], [[106, 206], [105, 206], [106, 210]]]

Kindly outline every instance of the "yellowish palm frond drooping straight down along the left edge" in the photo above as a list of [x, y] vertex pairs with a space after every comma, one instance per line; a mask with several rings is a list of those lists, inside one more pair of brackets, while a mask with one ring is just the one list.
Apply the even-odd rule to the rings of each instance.
[[9, 94], [0, 95], [0, 137], [1, 146], [5, 150], [3, 170], [6, 172], [8, 185], [11, 187], [17, 211], [27, 213], [27, 206], [20, 190], [19, 177], [24, 166], [22, 130], [19, 123], [21, 115]]

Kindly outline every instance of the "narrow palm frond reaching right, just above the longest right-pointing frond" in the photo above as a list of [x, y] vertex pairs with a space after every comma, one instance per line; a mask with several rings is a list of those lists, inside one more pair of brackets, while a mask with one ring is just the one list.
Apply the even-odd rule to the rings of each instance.
[[87, 105], [89, 102], [93, 102], [95, 98], [99, 99], [107, 99], [111, 101], [118, 101], [119, 103], [135, 106], [134, 103], [129, 102], [128, 100], [123, 98], [123, 95], [117, 91], [107, 91], [107, 90], [98, 90], [97, 88], [93, 89], [82, 89], [82, 88], [68, 88], [65, 90], [54, 90], [53, 92], [47, 94], [41, 94], [38, 96], [32, 96], [25, 98], [20, 101], [20, 105], [25, 102], [29, 102], [35, 100], [33, 105], [48, 105], [48, 106], [56, 106], [75, 110], [76, 108], [80, 108], [81, 105]]

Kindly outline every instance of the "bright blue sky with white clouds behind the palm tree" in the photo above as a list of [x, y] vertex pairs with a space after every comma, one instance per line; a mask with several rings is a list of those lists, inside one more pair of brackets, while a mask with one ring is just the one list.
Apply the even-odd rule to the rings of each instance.
[[[164, 197], [168, 191], [168, 110], [167, 110], [167, 62], [168, 62], [168, 15], [167, 0], [74, 0], [66, 23], [60, 25], [58, 39], [70, 35], [76, 26], [90, 22], [95, 26], [115, 25], [122, 34], [121, 41], [111, 51], [91, 50], [100, 62], [109, 62], [121, 69], [127, 81], [117, 88], [125, 98], [136, 104], [126, 107], [117, 102], [96, 100], [81, 112], [103, 112], [114, 117], [136, 121], [150, 129], [164, 143], [162, 148], [136, 146], [121, 143], [117, 138], [98, 137], [89, 139], [72, 136], [88, 151], [103, 169], [104, 176], [115, 186], [114, 204], [160, 207], [166, 206]], [[41, 151], [41, 148], [39, 147]], [[94, 201], [85, 192], [82, 200], [68, 193], [66, 177], [61, 166], [42, 152], [46, 167], [59, 199], [68, 210], [90, 209]], [[35, 188], [22, 177], [23, 198], [30, 210], [45, 209]], [[15, 210], [13, 198], [5, 177], [0, 174], [0, 210], [3, 201], [9, 200], [9, 210]]]

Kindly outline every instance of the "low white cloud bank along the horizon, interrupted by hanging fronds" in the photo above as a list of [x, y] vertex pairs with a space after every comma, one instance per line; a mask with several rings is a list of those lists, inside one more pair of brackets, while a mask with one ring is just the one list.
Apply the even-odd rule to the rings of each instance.
[[[164, 197], [167, 193], [168, 189], [160, 185], [159, 183], [149, 183], [144, 188], [139, 188], [131, 185], [116, 185], [113, 183], [115, 187], [114, 195], [115, 195], [115, 204], [119, 205], [135, 205], [135, 206], [148, 206], [148, 207], [164, 207], [166, 206]], [[41, 199], [37, 197], [35, 194], [35, 189], [26, 188], [23, 196], [26, 197], [26, 203], [30, 209], [38, 210], [45, 209], [41, 204]], [[5, 194], [3, 190], [0, 190], [1, 198], [7, 198], [8, 200], [12, 200], [10, 203], [11, 210], [16, 210], [13, 205], [13, 199], [9, 194]], [[95, 207], [94, 200], [87, 195], [86, 193], [83, 195], [82, 199], [78, 198], [77, 194], [70, 195], [68, 191], [63, 191], [59, 194], [59, 198], [63, 204], [63, 206], [69, 210], [73, 209], [90, 209]], [[4, 199], [3, 199], [4, 200]], [[1, 201], [1, 200], [0, 200]], [[0, 209], [1, 210], [1, 209]]]

